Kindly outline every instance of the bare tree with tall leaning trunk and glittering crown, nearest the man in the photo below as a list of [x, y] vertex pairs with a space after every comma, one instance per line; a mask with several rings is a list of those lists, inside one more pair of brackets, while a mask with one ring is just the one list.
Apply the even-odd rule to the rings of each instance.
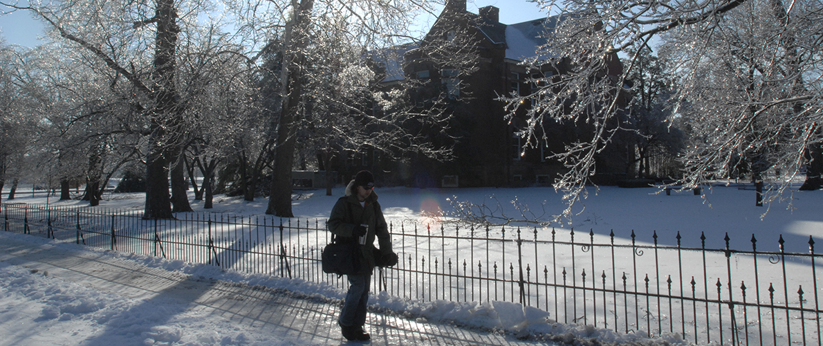
[[[236, 2], [242, 23], [239, 32], [249, 40], [277, 44], [281, 56], [281, 107], [272, 129], [277, 129], [275, 160], [267, 213], [291, 217], [291, 171], [294, 166], [297, 125], [306, 114], [305, 95], [309, 52], [323, 52], [321, 34], [337, 33], [362, 52], [395, 45], [411, 27], [414, 12], [430, 10], [429, 2], [405, 0], [291, 0]], [[265, 36], [265, 37], [261, 37]], [[272, 40], [277, 38], [277, 40]], [[319, 69], [314, 69], [319, 71]]]

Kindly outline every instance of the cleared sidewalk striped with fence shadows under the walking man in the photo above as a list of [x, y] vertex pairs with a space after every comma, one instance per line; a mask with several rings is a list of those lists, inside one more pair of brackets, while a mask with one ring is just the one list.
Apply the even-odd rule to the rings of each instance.
[[[55, 251], [33, 247], [17, 239], [16, 236], [3, 237], [0, 241], [0, 260], [33, 271], [48, 271], [51, 277], [138, 302], [151, 302], [153, 305], [168, 303], [167, 306], [179, 306], [174, 308], [181, 312], [194, 310], [218, 315], [245, 327], [278, 330], [299, 339], [301, 344], [343, 344], [345, 341], [337, 327], [339, 306], [323, 297], [301, 297], [281, 289], [195, 278], [100, 252]], [[174, 311], [170, 315], [174, 315]], [[371, 344], [542, 344], [518, 340], [510, 334], [419, 323], [379, 313], [369, 314], [366, 328], [372, 335]], [[103, 344], [116, 333], [109, 327], [83, 344]]]

